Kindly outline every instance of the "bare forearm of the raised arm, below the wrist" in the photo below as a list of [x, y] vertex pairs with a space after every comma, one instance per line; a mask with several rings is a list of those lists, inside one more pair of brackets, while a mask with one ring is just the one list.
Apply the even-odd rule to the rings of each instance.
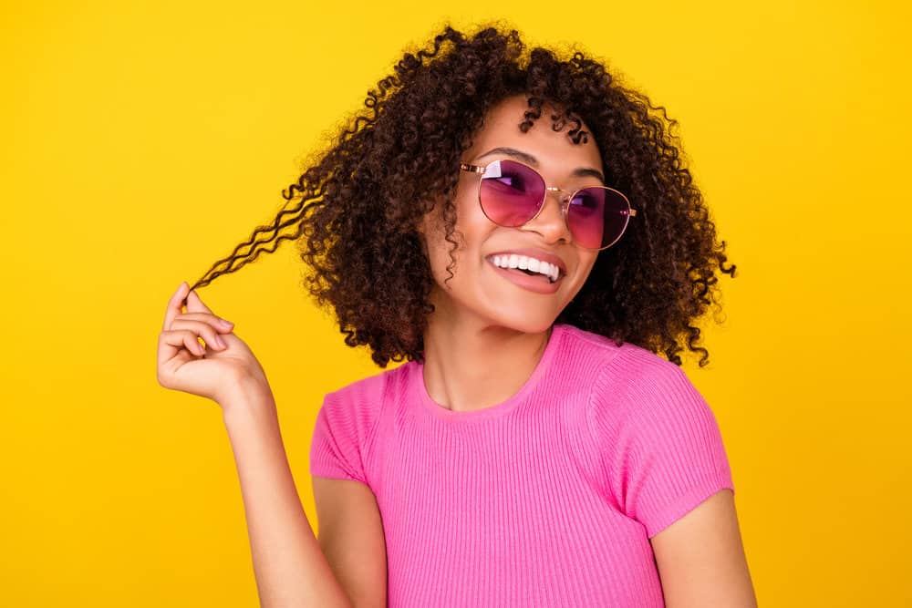
[[239, 382], [223, 418], [244, 498], [254, 575], [264, 608], [351, 608], [295, 489], [268, 387]]

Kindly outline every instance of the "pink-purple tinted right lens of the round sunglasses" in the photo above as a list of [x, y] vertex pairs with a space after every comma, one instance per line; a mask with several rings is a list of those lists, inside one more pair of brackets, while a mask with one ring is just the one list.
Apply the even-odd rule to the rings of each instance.
[[627, 228], [630, 207], [619, 192], [592, 187], [576, 192], [567, 208], [570, 233], [579, 244], [601, 249], [613, 244]]

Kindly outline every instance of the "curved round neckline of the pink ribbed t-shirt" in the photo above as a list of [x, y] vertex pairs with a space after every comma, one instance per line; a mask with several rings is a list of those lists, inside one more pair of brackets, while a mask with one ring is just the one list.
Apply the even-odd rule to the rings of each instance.
[[451, 409], [441, 406], [434, 401], [428, 393], [428, 388], [424, 384], [424, 364], [420, 362], [415, 362], [415, 366], [412, 367], [412, 377], [409, 382], [412, 387], [412, 395], [420, 402], [420, 409], [451, 423], [477, 422], [494, 417], [501, 417], [513, 411], [513, 409], [522, 403], [525, 397], [538, 386], [543, 376], [548, 372], [551, 362], [554, 360], [554, 355], [557, 352], [558, 343], [564, 337], [564, 334], [564, 325], [554, 324], [552, 326], [548, 343], [544, 346], [544, 353], [538, 360], [538, 364], [535, 366], [532, 375], [529, 376], [523, 386], [521, 386], [512, 397], [507, 397], [498, 404], [466, 412], [454, 412]]

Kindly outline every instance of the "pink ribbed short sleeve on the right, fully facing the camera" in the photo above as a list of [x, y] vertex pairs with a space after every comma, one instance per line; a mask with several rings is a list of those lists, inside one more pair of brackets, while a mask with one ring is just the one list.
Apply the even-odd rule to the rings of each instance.
[[616, 400], [602, 394], [596, 433], [618, 508], [652, 538], [734, 483], [716, 417], [684, 372], [658, 356], [639, 371]]

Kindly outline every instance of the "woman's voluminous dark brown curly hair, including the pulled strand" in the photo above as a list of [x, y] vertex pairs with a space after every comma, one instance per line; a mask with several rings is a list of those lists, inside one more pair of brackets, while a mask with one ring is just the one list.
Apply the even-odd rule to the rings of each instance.
[[[720, 310], [716, 271], [733, 277], [735, 266], [725, 267], [725, 242], [717, 244], [710, 213], [682, 166], [672, 132], [677, 121], [582, 52], [561, 57], [541, 46], [524, 49], [514, 29], [479, 26], [466, 36], [447, 25], [430, 48], [406, 52], [395, 75], [368, 91], [368, 109], [282, 191], [286, 202], [274, 222], [257, 227], [193, 288], [295, 240], [308, 267], [303, 283], [316, 304], [331, 307], [347, 345], [368, 345], [380, 367], [423, 360], [433, 278], [417, 228], [440, 204], [428, 193], [442, 201], [451, 269], [461, 153], [488, 108], [522, 94], [529, 109], [519, 129], [528, 130], [548, 103], [564, 108], [551, 116], [553, 128], [575, 121], [578, 143], [589, 136], [579, 129], [581, 117], [611, 160], [603, 167], [606, 185], [637, 208], [636, 220], [599, 252], [556, 323], [663, 353], [678, 366], [679, 341], [686, 339], [706, 365], [709, 351], [697, 345], [700, 329], [691, 323], [710, 304]], [[275, 246], [266, 249], [270, 242]]]

